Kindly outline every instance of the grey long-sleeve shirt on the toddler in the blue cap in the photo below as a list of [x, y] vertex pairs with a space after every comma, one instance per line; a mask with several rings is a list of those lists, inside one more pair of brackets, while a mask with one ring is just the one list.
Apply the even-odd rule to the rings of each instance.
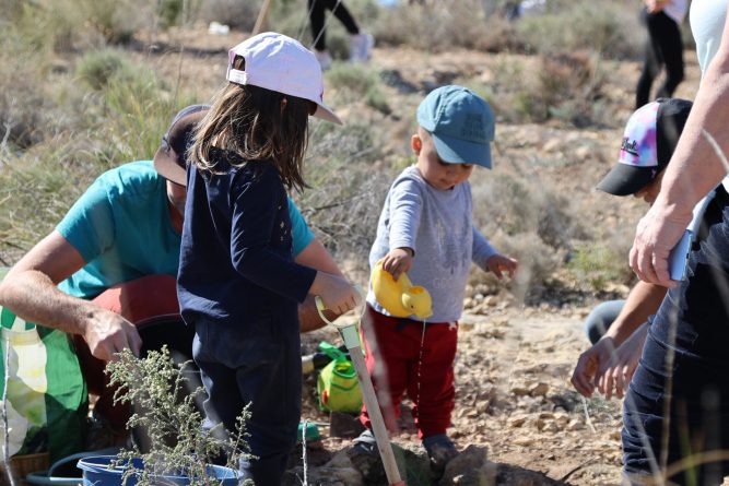
[[[497, 253], [473, 226], [472, 211], [468, 181], [450, 190], [435, 189], [415, 166], [395, 179], [385, 200], [369, 266], [373, 269], [390, 249], [412, 248], [415, 257], [408, 276], [433, 298], [428, 322], [458, 320], [471, 261], [485, 269], [486, 260]], [[378, 312], [388, 313], [375, 300], [372, 288], [367, 303]]]

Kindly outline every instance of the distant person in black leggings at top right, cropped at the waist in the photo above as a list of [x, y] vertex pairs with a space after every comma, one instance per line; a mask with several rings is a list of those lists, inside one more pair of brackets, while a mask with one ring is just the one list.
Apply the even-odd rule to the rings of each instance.
[[[683, 81], [683, 40], [681, 23], [686, 15], [686, 0], [645, 0], [642, 11], [648, 28], [643, 71], [638, 79], [635, 94], [635, 108], [638, 109], [655, 98], [670, 97]], [[650, 97], [654, 80], [666, 67], [666, 81], [658, 88], [655, 98]]]

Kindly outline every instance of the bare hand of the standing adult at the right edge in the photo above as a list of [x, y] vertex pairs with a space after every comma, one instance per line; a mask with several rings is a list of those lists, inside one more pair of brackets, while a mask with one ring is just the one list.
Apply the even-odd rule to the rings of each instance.
[[658, 201], [643, 216], [630, 253], [631, 268], [642, 281], [675, 286], [669, 275], [668, 257], [690, 222], [691, 209], [679, 212], [677, 208], [667, 208]]

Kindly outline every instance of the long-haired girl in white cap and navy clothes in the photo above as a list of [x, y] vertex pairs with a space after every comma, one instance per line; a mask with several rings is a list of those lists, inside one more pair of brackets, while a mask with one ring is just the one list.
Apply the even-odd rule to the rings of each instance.
[[343, 313], [357, 298], [292, 257], [286, 188], [304, 186], [308, 116], [339, 118], [314, 54], [281, 34], [231, 49], [226, 78], [190, 147], [178, 295], [196, 331], [205, 426], [233, 431], [249, 404], [255, 458], [242, 461], [243, 478], [278, 486], [301, 417], [297, 301], [318, 295]]

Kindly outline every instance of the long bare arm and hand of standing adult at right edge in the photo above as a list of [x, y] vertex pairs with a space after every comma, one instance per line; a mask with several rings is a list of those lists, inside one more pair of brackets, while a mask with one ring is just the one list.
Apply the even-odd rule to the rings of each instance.
[[[729, 15], [727, 15], [729, 20]], [[631, 249], [631, 268], [645, 282], [673, 286], [668, 256], [692, 217], [692, 209], [706, 195], [727, 169], [707, 140], [713, 137], [729, 154], [729, 28], [725, 20], [719, 49], [709, 63], [696, 94], [671, 163], [666, 168], [661, 191], [640, 220]]]

